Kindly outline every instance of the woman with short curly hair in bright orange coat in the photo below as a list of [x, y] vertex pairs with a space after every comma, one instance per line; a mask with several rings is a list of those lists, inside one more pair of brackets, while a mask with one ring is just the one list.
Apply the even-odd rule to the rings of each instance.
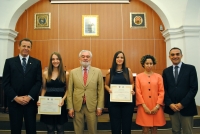
[[145, 55], [140, 61], [144, 72], [136, 77], [136, 124], [142, 126], [142, 134], [157, 134], [157, 127], [164, 126], [166, 121], [163, 106], [164, 86], [160, 74], [154, 73], [156, 59]]

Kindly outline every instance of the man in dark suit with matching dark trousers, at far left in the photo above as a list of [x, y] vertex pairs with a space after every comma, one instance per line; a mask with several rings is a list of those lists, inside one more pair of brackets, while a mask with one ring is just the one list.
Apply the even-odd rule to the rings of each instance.
[[21, 134], [23, 119], [27, 134], [36, 134], [36, 102], [42, 84], [41, 62], [29, 56], [32, 41], [22, 39], [19, 55], [6, 59], [3, 89], [7, 96], [11, 134]]

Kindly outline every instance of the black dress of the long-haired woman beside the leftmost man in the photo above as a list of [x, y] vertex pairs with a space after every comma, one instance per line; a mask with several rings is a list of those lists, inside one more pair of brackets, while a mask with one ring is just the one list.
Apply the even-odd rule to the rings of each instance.
[[[65, 95], [66, 84], [59, 81], [58, 79], [52, 80], [46, 83], [45, 96], [51, 97], [63, 97]], [[40, 121], [49, 125], [63, 125], [67, 122], [67, 109], [66, 103], [61, 107], [61, 115], [41, 115]]]

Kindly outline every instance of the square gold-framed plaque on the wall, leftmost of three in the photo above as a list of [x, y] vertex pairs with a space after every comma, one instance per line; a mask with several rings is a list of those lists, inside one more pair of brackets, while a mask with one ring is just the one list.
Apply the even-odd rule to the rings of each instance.
[[50, 29], [51, 13], [35, 13], [34, 29]]

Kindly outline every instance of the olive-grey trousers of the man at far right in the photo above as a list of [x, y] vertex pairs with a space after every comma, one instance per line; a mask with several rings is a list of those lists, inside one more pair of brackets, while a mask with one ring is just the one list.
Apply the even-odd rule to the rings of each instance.
[[182, 116], [180, 112], [169, 115], [172, 123], [172, 134], [193, 134], [193, 116]]

